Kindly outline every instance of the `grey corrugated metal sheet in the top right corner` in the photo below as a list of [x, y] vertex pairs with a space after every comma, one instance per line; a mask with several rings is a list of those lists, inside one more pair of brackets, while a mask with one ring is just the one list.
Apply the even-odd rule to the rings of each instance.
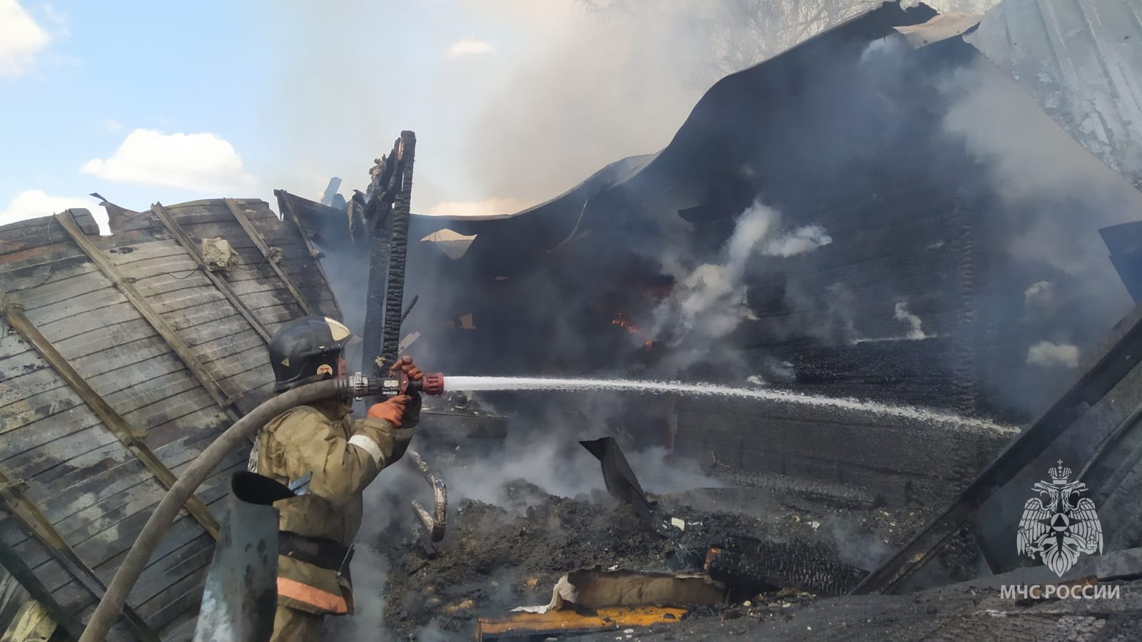
[[1142, 188], [1142, 0], [1004, 0], [965, 40]]

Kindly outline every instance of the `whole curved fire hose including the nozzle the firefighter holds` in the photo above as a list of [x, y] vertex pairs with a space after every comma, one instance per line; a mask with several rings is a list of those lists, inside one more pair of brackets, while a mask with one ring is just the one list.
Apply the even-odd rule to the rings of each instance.
[[[314, 384], [306, 384], [290, 391], [286, 391], [268, 399], [260, 406], [251, 410], [244, 417], [234, 422], [226, 428], [210, 446], [187, 466], [186, 471], [171, 484], [170, 490], [159, 501], [159, 506], [151, 513], [143, 530], [127, 552], [127, 557], [115, 571], [115, 577], [111, 580], [99, 605], [91, 613], [87, 628], [80, 637], [80, 642], [97, 642], [103, 640], [112, 625], [122, 613], [123, 604], [130, 594], [135, 583], [146, 569], [152, 553], [159, 546], [162, 536], [174, 522], [175, 516], [183, 509], [183, 505], [195, 489], [207, 479], [215, 466], [217, 466], [226, 455], [233, 452], [247, 442], [257, 431], [271, 419], [297, 406], [305, 406], [314, 401], [330, 398], [361, 399], [372, 394], [393, 395], [412, 392], [424, 392], [426, 394], [441, 394], [444, 390], [444, 377], [439, 374], [425, 375], [420, 380], [412, 382], [408, 377], [393, 376], [385, 379], [364, 377], [356, 374], [352, 377], [327, 379]], [[397, 439], [410, 439], [411, 428], [397, 428]]]

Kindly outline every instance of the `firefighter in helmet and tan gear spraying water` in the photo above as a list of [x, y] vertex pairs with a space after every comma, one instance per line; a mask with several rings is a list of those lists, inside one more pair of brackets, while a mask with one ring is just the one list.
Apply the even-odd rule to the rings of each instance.
[[[333, 319], [305, 316], [270, 342], [274, 392], [346, 376], [343, 352], [356, 338]], [[423, 374], [404, 356], [391, 369]], [[349, 561], [361, 527], [361, 493], [408, 448], [420, 414], [419, 395], [400, 395], [369, 408], [364, 420], [340, 400], [299, 406], [258, 433], [250, 471], [301, 491], [279, 501], [278, 610], [271, 640], [320, 640], [327, 615], [353, 612]]]

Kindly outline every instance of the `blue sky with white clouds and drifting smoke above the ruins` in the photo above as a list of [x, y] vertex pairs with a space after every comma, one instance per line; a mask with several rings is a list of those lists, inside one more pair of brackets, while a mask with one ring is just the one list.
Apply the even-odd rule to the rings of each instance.
[[[659, 97], [632, 97], [632, 70], [592, 69], [628, 39], [585, 37], [595, 17], [571, 0], [329, 5], [0, 0], [0, 224], [91, 206], [90, 192], [131, 209], [312, 198], [335, 175], [347, 192], [401, 129], [418, 134], [415, 210], [514, 211], [657, 151], [700, 96], [686, 88], [656, 126], [612, 110]], [[510, 144], [488, 143], [498, 129]], [[611, 142], [520, 158], [596, 134]], [[513, 163], [531, 178], [513, 180]]]

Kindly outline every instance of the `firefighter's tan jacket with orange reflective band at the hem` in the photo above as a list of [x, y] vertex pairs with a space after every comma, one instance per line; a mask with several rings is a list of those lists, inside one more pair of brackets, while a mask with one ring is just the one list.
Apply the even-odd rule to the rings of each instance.
[[[419, 406], [419, 404], [417, 404]], [[419, 408], [418, 408], [419, 410]], [[283, 484], [312, 473], [305, 495], [276, 501], [282, 538], [295, 533], [348, 551], [361, 528], [361, 493], [393, 459], [394, 428], [385, 419], [354, 419], [336, 401], [299, 406], [258, 433], [250, 470]], [[416, 417], [405, 417], [411, 428]], [[403, 432], [403, 431], [402, 431]], [[278, 556], [278, 603], [312, 613], [352, 613], [347, 565], [322, 568]]]

